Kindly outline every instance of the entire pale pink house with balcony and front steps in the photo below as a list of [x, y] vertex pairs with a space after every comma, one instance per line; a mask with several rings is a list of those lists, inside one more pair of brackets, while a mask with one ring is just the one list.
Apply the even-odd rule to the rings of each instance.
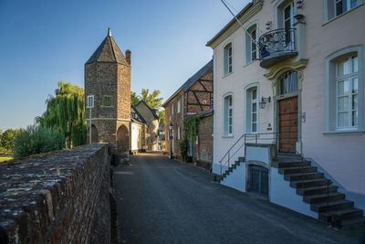
[[360, 220], [363, 1], [254, 0], [236, 17], [246, 32], [233, 18], [207, 43], [214, 49], [214, 174], [311, 217]]

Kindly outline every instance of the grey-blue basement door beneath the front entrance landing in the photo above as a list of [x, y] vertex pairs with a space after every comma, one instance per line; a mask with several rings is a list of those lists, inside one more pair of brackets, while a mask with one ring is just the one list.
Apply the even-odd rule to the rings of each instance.
[[268, 196], [268, 169], [262, 166], [249, 166], [248, 191]]

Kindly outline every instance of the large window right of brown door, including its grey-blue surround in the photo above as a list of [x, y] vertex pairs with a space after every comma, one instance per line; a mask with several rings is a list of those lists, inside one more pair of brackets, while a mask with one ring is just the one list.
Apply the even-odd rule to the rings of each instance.
[[325, 58], [325, 133], [364, 132], [364, 46]]

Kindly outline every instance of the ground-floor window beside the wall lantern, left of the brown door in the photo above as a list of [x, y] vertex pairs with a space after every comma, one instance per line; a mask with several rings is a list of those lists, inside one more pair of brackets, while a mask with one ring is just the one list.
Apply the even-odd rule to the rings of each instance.
[[258, 132], [258, 86], [245, 88], [245, 133]]

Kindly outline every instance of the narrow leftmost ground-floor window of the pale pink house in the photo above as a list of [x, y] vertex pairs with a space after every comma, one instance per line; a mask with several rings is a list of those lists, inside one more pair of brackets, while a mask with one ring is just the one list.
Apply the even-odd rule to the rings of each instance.
[[[231, 104], [229, 104], [231, 98]], [[230, 120], [231, 119], [231, 120]], [[234, 95], [232, 92], [224, 94], [223, 97], [223, 136], [233, 137], [234, 135]]]

